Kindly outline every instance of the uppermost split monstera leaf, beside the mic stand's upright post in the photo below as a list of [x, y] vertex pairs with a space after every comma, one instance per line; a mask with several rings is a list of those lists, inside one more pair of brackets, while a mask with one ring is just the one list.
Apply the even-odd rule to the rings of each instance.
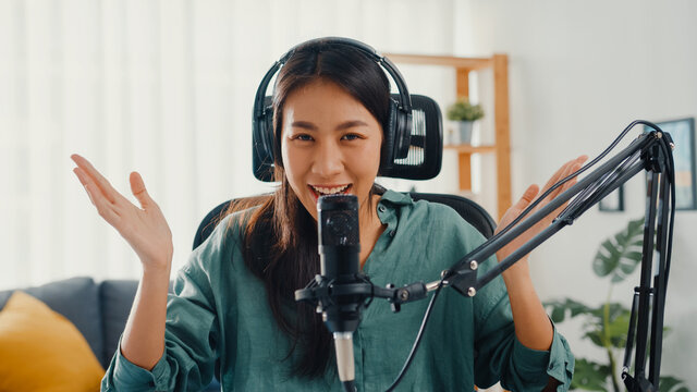
[[594, 272], [610, 277], [613, 283], [631, 275], [641, 261], [644, 218], [629, 221], [627, 228], [600, 244], [592, 262]]

